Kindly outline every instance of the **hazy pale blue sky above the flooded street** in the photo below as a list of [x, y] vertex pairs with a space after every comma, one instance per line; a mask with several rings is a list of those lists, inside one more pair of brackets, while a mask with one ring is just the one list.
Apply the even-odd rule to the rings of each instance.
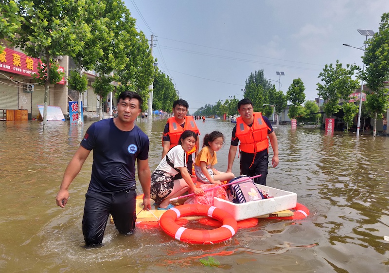
[[[325, 64], [362, 67], [366, 36], [378, 31], [389, 0], [124, 0], [150, 40], [159, 70], [172, 78], [189, 111], [235, 96], [250, 73], [286, 94], [301, 78], [306, 100], [318, 97]], [[278, 76], [276, 72], [284, 72]], [[280, 87], [280, 88], [279, 88]]]

